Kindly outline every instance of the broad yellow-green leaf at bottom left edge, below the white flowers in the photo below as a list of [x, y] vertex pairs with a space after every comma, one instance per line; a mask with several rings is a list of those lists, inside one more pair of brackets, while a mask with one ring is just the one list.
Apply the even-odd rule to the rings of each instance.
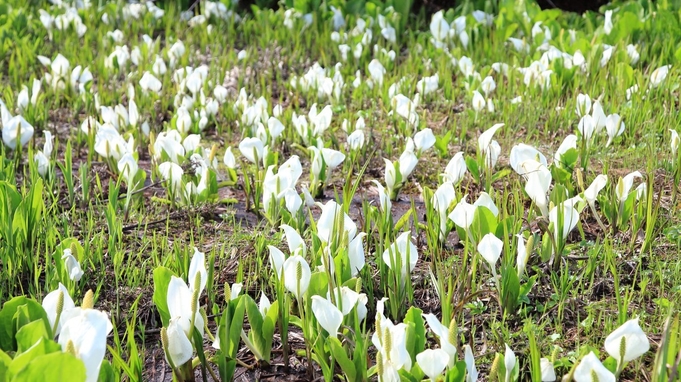
[[36, 357], [12, 381], [82, 382], [85, 381], [85, 365], [73, 354], [59, 351]]

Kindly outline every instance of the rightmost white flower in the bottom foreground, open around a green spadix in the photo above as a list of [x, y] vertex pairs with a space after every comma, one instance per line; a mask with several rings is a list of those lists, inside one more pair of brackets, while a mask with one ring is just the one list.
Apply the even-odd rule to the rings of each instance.
[[638, 324], [638, 318], [625, 322], [605, 339], [605, 350], [621, 368], [650, 349], [648, 337]]

